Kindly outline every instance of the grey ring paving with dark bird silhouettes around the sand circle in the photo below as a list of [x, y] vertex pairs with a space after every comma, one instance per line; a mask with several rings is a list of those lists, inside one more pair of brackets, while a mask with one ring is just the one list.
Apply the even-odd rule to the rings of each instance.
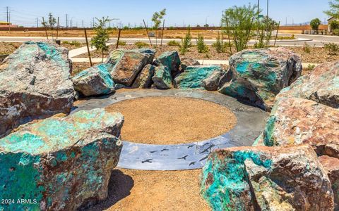
[[[268, 113], [247, 106], [230, 96], [207, 91], [184, 91], [178, 89], [158, 90], [143, 89], [140, 91], [126, 91], [110, 96], [88, 98], [87, 101], [73, 108], [71, 113], [79, 110], [105, 108], [114, 103], [134, 98], [149, 96], [174, 96], [197, 98], [218, 103], [232, 110], [237, 117], [234, 128], [221, 136], [177, 145], [153, 145], [123, 141], [124, 146], [117, 167], [133, 170], [194, 170], [205, 165], [210, 151], [217, 148], [234, 146], [251, 146], [253, 141], [263, 131]], [[124, 134], [122, 134], [124, 138]]]

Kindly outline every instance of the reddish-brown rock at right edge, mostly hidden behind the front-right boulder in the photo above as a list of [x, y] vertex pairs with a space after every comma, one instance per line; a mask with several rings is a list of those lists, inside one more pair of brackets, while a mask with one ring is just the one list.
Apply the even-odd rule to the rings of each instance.
[[335, 210], [339, 210], [339, 159], [323, 155], [319, 160], [332, 184]]

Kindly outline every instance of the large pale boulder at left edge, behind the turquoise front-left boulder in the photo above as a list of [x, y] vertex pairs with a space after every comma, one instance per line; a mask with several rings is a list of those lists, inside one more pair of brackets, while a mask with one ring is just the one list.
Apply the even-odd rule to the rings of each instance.
[[19, 124], [73, 106], [69, 51], [47, 41], [27, 41], [0, 66], [0, 137]]

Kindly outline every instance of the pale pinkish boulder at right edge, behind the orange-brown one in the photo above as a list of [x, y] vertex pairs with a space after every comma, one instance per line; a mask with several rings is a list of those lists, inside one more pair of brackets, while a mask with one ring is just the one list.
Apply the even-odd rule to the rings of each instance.
[[339, 108], [339, 62], [323, 63], [280, 91], [279, 98], [304, 98]]

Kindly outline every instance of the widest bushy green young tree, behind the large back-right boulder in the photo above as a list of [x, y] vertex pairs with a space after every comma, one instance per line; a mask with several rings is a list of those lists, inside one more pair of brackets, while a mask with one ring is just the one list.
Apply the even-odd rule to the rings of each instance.
[[238, 52], [246, 49], [256, 16], [256, 5], [251, 6], [251, 4], [233, 6], [222, 15], [222, 29], [232, 39]]

